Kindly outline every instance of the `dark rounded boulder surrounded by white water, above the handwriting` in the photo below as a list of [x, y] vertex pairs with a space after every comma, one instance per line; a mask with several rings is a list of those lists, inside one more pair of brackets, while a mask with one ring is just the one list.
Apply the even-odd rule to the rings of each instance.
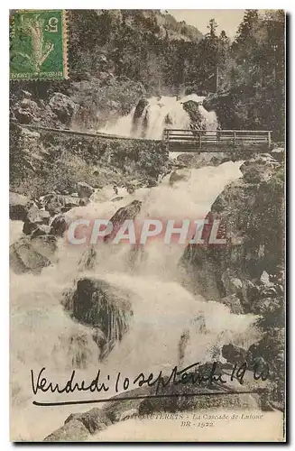
[[65, 295], [64, 307], [80, 323], [93, 327], [93, 338], [104, 359], [129, 328], [130, 294], [99, 279], [80, 279]]

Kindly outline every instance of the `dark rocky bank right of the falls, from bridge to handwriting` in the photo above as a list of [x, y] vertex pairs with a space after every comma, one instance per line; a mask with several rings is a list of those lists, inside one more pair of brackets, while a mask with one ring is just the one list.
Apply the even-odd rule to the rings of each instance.
[[207, 216], [224, 224], [226, 246], [190, 244], [182, 262], [193, 290], [225, 303], [234, 313], [260, 316], [256, 327], [263, 338], [248, 350], [226, 345], [223, 355], [229, 362], [263, 359], [270, 371], [271, 402], [282, 409], [284, 171], [268, 154], [245, 161], [241, 171], [244, 178], [226, 186]]

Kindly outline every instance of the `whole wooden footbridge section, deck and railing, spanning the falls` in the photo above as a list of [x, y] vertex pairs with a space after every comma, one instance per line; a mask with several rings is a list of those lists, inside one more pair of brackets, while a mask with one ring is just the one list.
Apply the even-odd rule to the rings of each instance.
[[269, 130], [183, 130], [166, 128], [163, 133], [169, 152], [226, 152], [248, 148], [265, 152], [272, 146]]

